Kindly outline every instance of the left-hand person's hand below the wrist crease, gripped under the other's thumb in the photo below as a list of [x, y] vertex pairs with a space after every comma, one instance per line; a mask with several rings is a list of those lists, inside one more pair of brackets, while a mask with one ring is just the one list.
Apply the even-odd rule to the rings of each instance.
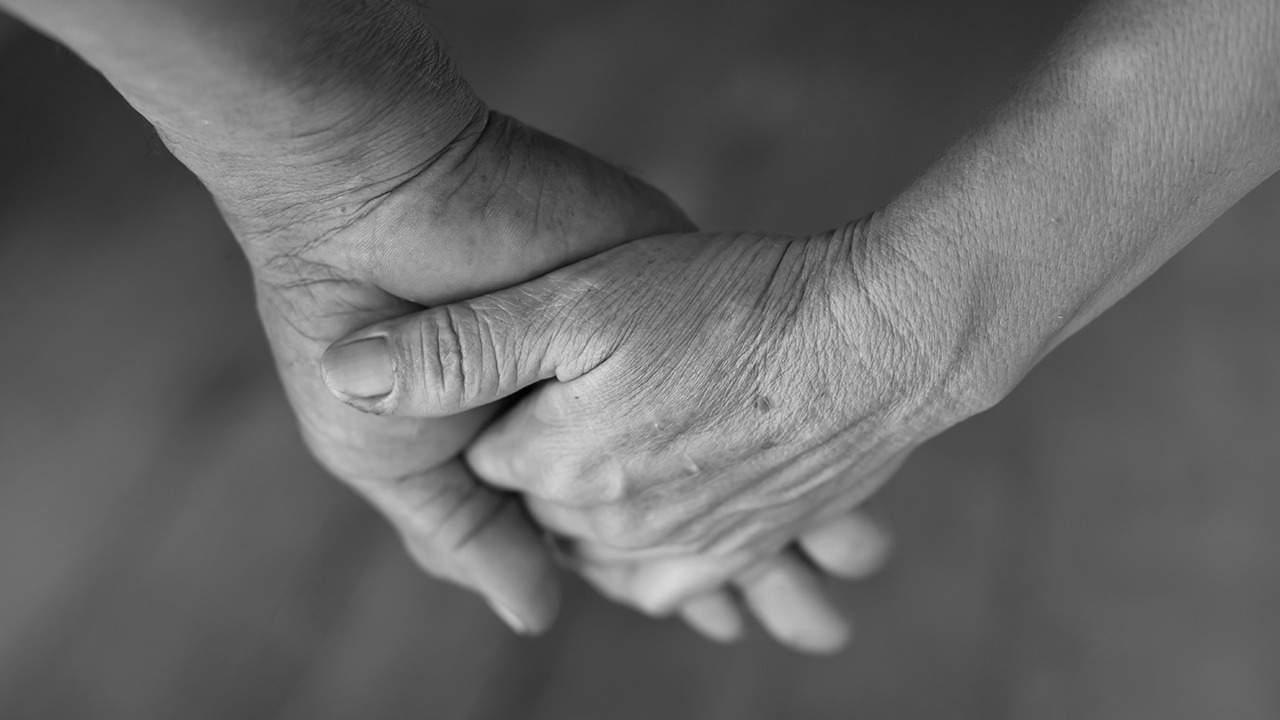
[[557, 582], [540, 536], [518, 503], [476, 483], [458, 457], [497, 407], [444, 420], [356, 413], [324, 388], [320, 355], [416, 304], [512, 284], [689, 222], [625, 173], [492, 113], [353, 217], [265, 228], [264, 217], [229, 220], [250, 251], [262, 320], [312, 452], [392, 520], [425, 569], [480, 592], [516, 629], [544, 629]]

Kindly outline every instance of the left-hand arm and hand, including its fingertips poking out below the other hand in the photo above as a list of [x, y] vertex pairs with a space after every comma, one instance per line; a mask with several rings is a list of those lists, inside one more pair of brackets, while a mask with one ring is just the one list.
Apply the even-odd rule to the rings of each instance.
[[[480, 592], [520, 632], [545, 629], [558, 591], [539, 530], [460, 459], [500, 406], [439, 420], [366, 415], [329, 393], [320, 356], [369, 323], [518, 283], [626, 240], [692, 229], [680, 209], [488, 110], [422, 18], [397, 3], [0, 5], [99, 68], [212, 191], [248, 256], [315, 456], [388, 516], [428, 571]], [[819, 530], [835, 533], [835, 550], [819, 551], [814, 536], [795, 551], [809, 552], [814, 568], [860, 577], [883, 556], [883, 534], [858, 515]], [[859, 557], [855, 546], [872, 552]], [[744, 583], [751, 607], [796, 647], [842, 642], [814, 570], [781, 557], [768, 583]], [[740, 632], [733, 603], [704, 602], [685, 616], [716, 639]]]

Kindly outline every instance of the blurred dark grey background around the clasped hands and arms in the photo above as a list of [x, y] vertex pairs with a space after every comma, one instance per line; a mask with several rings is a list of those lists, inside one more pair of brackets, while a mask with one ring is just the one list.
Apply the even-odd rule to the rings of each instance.
[[[1075, 5], [433, 3], [495, 108], [791, 232], [890, 199]], [[307, 457], [206, 193], [0, 17], [0, 717], [1280, 717], [1277, 181], [916, 454], [847, 652], [576, 583], [529, 641]]]

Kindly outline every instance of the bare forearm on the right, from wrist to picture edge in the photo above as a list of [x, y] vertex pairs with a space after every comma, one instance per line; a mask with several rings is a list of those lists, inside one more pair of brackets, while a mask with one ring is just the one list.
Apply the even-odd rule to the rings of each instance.
[[950, 395], [1002, 397], [1276, 172], [1277, 78], [1280, 3], [1098, 3], [873, 218], [925, 278]]

